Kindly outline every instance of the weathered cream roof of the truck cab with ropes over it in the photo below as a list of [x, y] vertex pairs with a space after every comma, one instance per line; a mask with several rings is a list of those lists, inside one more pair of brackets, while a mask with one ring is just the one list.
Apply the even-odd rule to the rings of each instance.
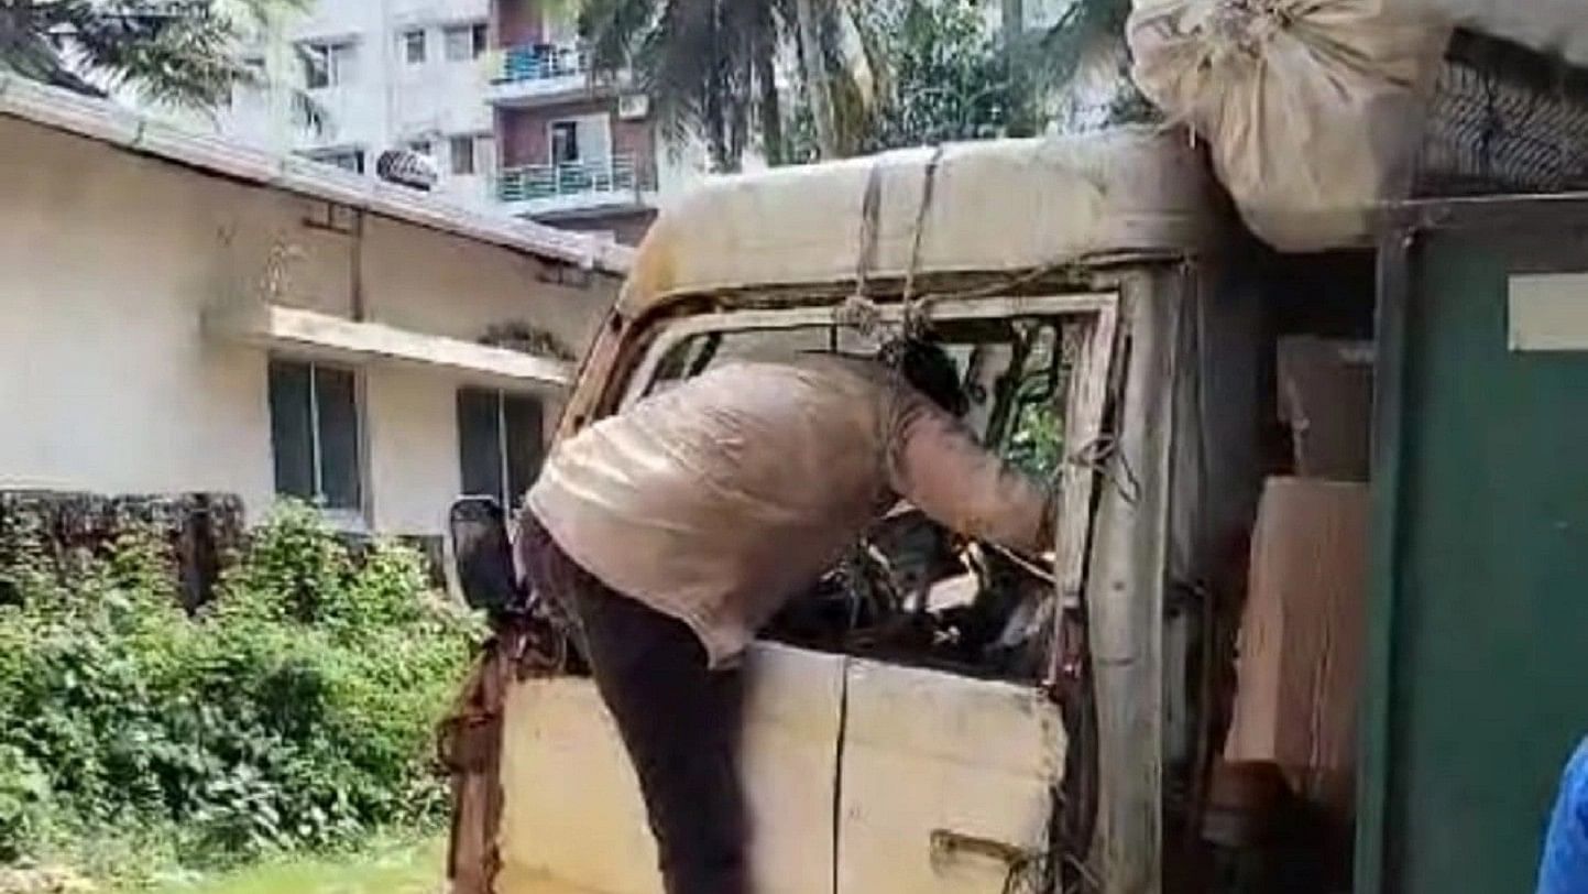
[[662, 211], [618, 308], [635, 318], [684, 295], [850, 283], [862, 256], [869, 278], [888, 279], [905, 276], [912, 256], [915, 273], [934, 275], [1186, 252], [1215, 229], [1212, 195], [1201, 152], [1174, 127], [961, 143], [713, 178]]

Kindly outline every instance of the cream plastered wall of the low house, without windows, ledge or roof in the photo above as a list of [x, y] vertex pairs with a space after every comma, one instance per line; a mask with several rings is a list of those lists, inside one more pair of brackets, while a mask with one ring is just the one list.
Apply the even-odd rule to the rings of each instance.
[[[202, 330], [257, 295], [273, 251], [281, 303], [353, 308], [353, 238], [326, 205], [0, 119], [0, 487], [224, 491], [273, 502], [267, 360]], [[395, 221], [365, 224], [368, 318], [478, 338], [527, 321], [583, 351], [616, 291], [543, 281], [540, 262]], [[367, 364], [367, 518], [435, 534], [459, 489], [457, 376]], [[556, 414], [548, 400], [548, 418]]]

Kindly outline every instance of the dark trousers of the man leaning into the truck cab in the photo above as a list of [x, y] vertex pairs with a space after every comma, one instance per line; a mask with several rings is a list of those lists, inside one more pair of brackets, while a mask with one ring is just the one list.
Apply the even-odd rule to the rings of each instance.
[[602, 584], [538, 524], [521, 537], [535, 591], [581, 627], [596, 688], [640, 778], [667, 894], [745, 894], [742, 675], [710, 670], [694, 630]]

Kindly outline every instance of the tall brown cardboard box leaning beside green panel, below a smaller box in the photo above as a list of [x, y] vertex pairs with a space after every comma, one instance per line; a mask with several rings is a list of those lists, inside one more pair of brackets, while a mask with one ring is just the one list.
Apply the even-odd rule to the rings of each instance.
[[1367, 486], [1270, 478], [1251, 540], [1224, 759], [1272, 761], [1350, 823], [1367, 583]]

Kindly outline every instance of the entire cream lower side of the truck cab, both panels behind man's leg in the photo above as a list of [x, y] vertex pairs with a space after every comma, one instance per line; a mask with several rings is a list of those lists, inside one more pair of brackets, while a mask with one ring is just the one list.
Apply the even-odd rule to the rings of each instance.
[[[742, 773], [756, 891], [1000, 894], [1042, 872], [1064, 765], [1029, 686], [757, 643]], [[589, 680], [507, 702], [499, 894], [661, 894], [638, 783]]]

